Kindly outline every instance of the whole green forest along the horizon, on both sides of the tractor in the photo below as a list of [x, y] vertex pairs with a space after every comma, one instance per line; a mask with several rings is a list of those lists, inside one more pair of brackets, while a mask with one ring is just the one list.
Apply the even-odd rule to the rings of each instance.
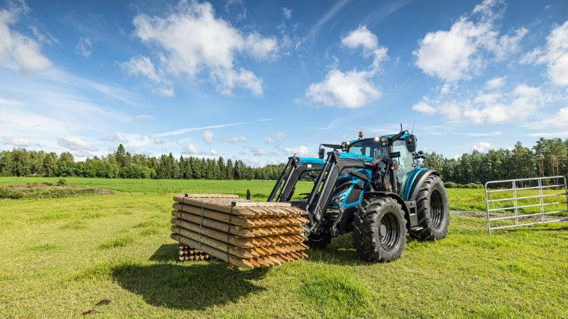
[[[532, 148], [520, 142], [511, 149], [464, 153], [447, 158], [427, 154], [425, 167], [436, 169], [444, 181], [483, 184], [499, 179], [567, 175], [568, 139], [540, 138]], [[103, 177], [129, 179], [278, 179], [284, 164], [250, 167], [240, 159], [219, 157], [176, 158], [131, 155], [123, 145], [104, 157], [75, 161], [70, 152], [26, 150], [0, 152], [1, 176], [39, 175], [45, 177]]]

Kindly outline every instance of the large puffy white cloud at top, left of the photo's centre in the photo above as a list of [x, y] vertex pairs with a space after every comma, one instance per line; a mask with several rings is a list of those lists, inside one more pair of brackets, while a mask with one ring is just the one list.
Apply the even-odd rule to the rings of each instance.
[[133, 19], [135, 35], [155, 47], [160, 66], [168, 74], [196, 79], [206, 75], [222, 94], [235, 87], [248, 89], [255, 96], [263, 93], [262, 80], [253, 72], [238, 67], [236, 57], [256, 59], [278, 56], [274, 37], [253, 32], [244, 34], [222, 18], [215, 17], [208, 2], [181, 1], [165, 17], [138, 14]]

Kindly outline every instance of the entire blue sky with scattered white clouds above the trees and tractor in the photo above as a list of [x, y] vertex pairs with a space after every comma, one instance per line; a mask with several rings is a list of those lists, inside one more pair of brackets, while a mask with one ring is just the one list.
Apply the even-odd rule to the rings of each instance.
[[568, 138], [568, 2], [0, 2], [0, 150], [261, 166], [401, 123], [446, 157]]

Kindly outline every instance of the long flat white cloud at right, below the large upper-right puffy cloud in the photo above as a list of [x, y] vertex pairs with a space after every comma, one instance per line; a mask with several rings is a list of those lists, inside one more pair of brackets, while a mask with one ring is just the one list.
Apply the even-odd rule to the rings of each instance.
[[[447, 120], [466, 121], [474, 124], [508, 123], [524, 121], [545, 105], [550, 96], [542, 93], [540, 87], [519, 84], [509, 92], [483, 93], [474, 99], [455, 101], [453, 99], [424, 99], [413, 109], [427, 115], [444, 115]], [[427, 107], [427, 106], [430, 106]]]

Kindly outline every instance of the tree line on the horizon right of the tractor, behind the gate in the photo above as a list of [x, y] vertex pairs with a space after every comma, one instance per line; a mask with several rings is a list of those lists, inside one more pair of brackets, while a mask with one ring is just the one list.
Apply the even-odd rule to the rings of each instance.
[[442, 180], [458, 184], [567, 176], [568, 139], [540, 138], [532, 149], [517, 142], [510, 150], [489, 150], [486, 153], [474, 150], [456, 159], [432, 152], [427, 155], [424, 164], [425, 167], [436, 169], [442, 175]]

